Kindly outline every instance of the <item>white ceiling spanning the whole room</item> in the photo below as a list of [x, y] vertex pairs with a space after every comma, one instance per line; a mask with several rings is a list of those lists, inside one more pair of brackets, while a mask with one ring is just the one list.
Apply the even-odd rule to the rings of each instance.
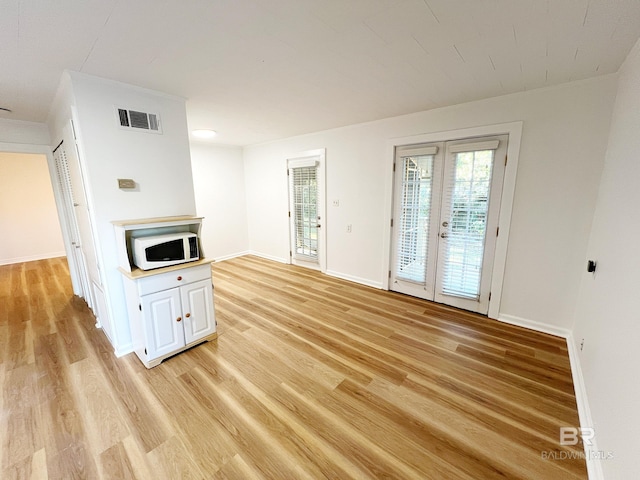
[[616, 72], [640, 0], [1, 0], [0, 118], [64, 69], [187, 98], [247, 145]]

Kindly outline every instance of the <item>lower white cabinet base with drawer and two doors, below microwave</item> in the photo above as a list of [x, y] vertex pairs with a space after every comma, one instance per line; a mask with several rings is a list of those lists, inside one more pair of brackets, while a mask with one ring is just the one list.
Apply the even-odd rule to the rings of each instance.
[[208, 262], [125, 274], [124, 279], [134, 350], [147, 368], [216, 338]]

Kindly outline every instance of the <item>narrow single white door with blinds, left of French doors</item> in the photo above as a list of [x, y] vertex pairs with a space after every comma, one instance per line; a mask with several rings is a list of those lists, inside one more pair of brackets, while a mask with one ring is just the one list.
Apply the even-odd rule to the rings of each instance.
[[289, 159], [291, 263], [324, 271], [324, 150]]

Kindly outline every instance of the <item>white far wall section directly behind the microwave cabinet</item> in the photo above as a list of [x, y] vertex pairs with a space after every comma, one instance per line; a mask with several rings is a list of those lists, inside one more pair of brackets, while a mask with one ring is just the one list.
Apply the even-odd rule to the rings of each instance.
[[249, 249], [242, 148], [191, 144], [193, 187], [207, 258], [220, 260]]

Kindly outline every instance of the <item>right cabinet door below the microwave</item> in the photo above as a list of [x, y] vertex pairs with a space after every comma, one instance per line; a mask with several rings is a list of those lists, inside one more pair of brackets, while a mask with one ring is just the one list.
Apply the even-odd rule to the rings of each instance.
[[211, 279], [180, 287], [180, 296], [184, 313], [185, 343], [189, 344], [215, 333]]

